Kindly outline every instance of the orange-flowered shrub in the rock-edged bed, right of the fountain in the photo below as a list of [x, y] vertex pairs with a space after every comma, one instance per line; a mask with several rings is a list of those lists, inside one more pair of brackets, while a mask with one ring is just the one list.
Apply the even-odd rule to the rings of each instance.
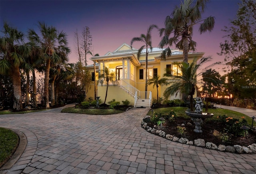
[[227, 115], [218, 116], [217, 118], [219, 119], [218, 121], [220, 123], [225, 125], [224, 131], [230, 134], [234, 134], [234, 136], [244, 135], [244, 130], [240, 129], [240, 127], [242, 127], [243, 125], [247, 127], [249, 126], [246, 119], [244, 119], [245, 117], [241, 117], [242, 121], [240, 121], [240, 119], [228, 117]]

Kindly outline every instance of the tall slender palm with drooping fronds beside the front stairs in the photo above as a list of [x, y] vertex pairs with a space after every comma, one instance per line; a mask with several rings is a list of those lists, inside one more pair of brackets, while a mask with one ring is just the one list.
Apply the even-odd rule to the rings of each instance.
[[144, 49], [144, 47], [146, 46], [146, 69], [145, 69], [145, 75], [146, 75], [146, 81], [145, 81], [145, 91], [148, 91], [148, 46], [150, 46], [150, 51], [152, 50], [152, 39], [151, 39], [151, 31], [153, 30], [153, 28], [158, 28], [156, 25], [151, 25], [148, 28], [147, 34], [141, 34], [140, 37], [135, 37], [132, 38], [131, 41], [131, 46], [132, 43], [135, 41], [139, 41], [139, 42], [144, 42], [145, 45], [143, 45], [142, 47], [140, 47], [140, 49], [138, 50], [137, 53], [137, 57], [140, 58], [140, 53], [142, 51], [142, 49]]

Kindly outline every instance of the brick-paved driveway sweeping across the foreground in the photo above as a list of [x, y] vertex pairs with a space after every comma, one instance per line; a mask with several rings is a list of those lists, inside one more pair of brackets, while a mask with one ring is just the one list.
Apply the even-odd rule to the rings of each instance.
[[256, 174], [256, 154], [232, 154], [172, 142], [140, 126], [148, 109], [116, 115], [58, 109], [0, 115], [0, 126], [25, 134], [11, 174]]

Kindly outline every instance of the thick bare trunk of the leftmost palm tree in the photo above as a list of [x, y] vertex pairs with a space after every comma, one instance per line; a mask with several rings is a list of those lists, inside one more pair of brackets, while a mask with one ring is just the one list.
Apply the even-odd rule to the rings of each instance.
[[22, 97], [21, 97], [21, 78], [20, 78], [20, 69], [18, 66], [14, 66], [12, 69], [12, 81], [13, 81], [13, 109], [15, 111], [20, 111], [22, 107]]

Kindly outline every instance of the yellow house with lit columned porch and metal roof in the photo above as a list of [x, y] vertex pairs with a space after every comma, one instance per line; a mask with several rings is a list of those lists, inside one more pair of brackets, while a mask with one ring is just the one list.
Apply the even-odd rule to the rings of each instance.
[[[160, 55], [163, 49], [154, 47], [148, 53], [148, 79], [155, 75], [164, 77], [164, 73], [171, 75], [180, 74], [180, 68], [175, 62], [182, 62], [182, 51], [172, 49], [172, 55], [166, 57], [166, 60], [161, 60]], [[112, 99], [122, 101], [128, 99], [134, 107], [151, 107], [152, 99], [156, 99], [157, 92], [153, 85], [148, 86], [145, 92], [145, 67], [146, 67], [146, 49], [142, 50], [140, 57], [137, 57], [138, 49], [123, 43], [113, 52], [108, 52], [102, 56], [91, 57], [90, 59], [96, 62], [96, 74], [94, 74], [94, 65], [88, 65], [86, 68], [92, 71], [92, 81], [87, 97], [94, 98], [94, 82], [96, 82], [97, 96], [102, 101], [106, 95], [106, 82], [101, 75], [107, 67], [114, 74], [108, 85], [108, 95], [106, 103]], [[189, 53], [188, 62], [193, 59], [201, 58], [203, 52]], [[94, 78], [95, 77], [95, 78]], [[100, 77], [100, 78], [99, 78]], [[94, 81], [96, 80], [96, 81]], [[158, 87], [159, 97], [163, 96], [166, 86]], [[180, 99], [181, 95], [169, 96], [168, 99]]]

